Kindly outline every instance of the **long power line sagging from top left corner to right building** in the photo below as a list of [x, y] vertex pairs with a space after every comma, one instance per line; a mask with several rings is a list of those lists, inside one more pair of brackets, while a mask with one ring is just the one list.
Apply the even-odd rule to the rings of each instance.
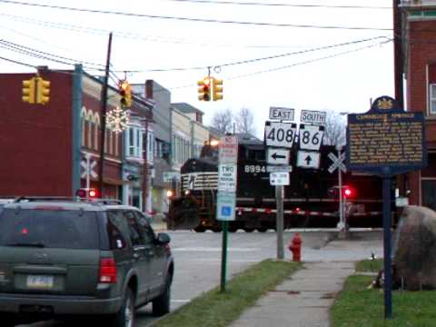
[[126, 12], [119, 12], [119, 11], [107, 11], [107, 10], [85, 9], [85, 8], [77, 8], [77, 7], [66, 7], [66, 6], [61, 6], [61, 5], [32, 4], [32, 3], [27, 3], [27, 2], [11, 1], [11, 0], [0, 0], [0, 3], [11, 4], [11, 5], [37, 6], [37, 7], [49, 8], [49, 9], [61, 9], [61, 10], [68, 10], [68, 11], [75, 11], [75, 12], [93, 13], [93, 14], [124, 15], [124, 16], [128, 16], [128, 17], [178, 20], [178, 21], [185, 21], [185, 22], [216, 23], [216, 24], [225, 24], [225, 25], [257, 25], [257, 26], [344, 29], [344, 30], [365, 30], [365, 31], [391, 31], [392, 30], [392, 28], [376, 28], [376, 27], [362, 27], [362, 26], [295, 25], [295, 24], [263, 23], [263, 22], [248, 22], [248, 21], [233, 21], [233, 20], [167, 16], [167, 15], [145, 15], [145, 14], [126, 13]]

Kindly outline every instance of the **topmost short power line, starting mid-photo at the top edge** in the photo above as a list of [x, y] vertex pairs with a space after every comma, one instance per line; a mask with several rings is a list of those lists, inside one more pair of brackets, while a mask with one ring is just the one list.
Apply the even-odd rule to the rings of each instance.
[[213, 0], [167, 0], [181, 3], [211, 4], [211, 5], [259, 5], [273, 7], [302, 7], [302, 8], [339, 8], [339, 9], [392, 9], [390, 6], [377, 5], [302, 5], [302, 4], [266, 4], [260, 2], [239, 2], [239, 1], [213, 1]]

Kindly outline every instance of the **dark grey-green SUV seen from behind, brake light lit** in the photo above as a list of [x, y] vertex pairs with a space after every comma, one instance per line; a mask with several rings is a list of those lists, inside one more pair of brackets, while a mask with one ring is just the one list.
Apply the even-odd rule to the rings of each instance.
[[18, 198], [0, 212], [0, 231], [2, 327], [71, 315], [132, 327], [147, 302], [154, 315], [170, 311], [170, 237], [135, 207]]

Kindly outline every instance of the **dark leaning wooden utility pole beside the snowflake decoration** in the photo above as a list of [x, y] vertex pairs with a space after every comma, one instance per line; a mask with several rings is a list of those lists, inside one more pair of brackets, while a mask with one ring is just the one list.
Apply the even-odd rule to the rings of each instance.
[[102, 96], [100, 102], [102, 103], [102, 133], [100, 136], [100, 169], [98, 173], [98, 184], [100, 189], [100, 197], [104, 197], [103, 190], [103, 175], [104, 175], [104, 141], [106, 138], [106, 108], [107, 108], [107, 83], [109, 80], [109, 66], [111, 64], [111, 48], [112, 48], [112, 32], [109, 34], [109, 42], [107, 45], [107, 58], [106, 58], [106, 69], [104, 74], [104, 82], [102, 88]]

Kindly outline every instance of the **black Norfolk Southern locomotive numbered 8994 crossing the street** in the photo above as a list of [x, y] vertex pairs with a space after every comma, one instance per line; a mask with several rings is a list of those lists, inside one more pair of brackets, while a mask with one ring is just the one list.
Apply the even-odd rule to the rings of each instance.
[[[249, 134], [238, 134], [236, 218], [229, 231], [265, 232], [275, 229], [275, 188], [270, 185], [265, 146]], [[297, 149], [292, 149], [290, 185], [284, 186], [284, 227], [336, 227], [339, 222], [338, 171], [329, 173], [336, 154], [334, 146], [322, 145], [319, 169], [295, 166]], [[344, 173], [347, 223], [352, 227], [381, 225], [381, 179], [365, 173]], [[181, 196], [174, 198], [168, 214], [168, 228], [221, 231], [215, 220], [218, 183], [218, 149], [204, 145], [200, 158], [189, 159], [181, 169]]]

